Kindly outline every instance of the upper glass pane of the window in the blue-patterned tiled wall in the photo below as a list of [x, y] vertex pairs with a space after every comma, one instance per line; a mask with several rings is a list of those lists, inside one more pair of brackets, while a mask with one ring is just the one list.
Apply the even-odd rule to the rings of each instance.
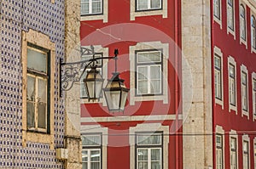
[[38, 49], [27, 48], [27, 68], [47, 73], [47, 54]]

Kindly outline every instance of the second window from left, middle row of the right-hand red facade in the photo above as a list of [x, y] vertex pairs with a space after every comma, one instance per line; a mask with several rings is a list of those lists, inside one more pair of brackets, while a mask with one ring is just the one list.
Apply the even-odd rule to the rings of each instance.
[[236, 72], [235, 65], [229, 65], [230, 104], [236, 106]]

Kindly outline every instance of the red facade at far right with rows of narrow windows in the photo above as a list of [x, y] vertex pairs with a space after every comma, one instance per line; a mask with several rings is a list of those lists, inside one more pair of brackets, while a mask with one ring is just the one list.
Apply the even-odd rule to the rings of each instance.
[[212, 1], [214, 168], [256, 167], [255, 1]]

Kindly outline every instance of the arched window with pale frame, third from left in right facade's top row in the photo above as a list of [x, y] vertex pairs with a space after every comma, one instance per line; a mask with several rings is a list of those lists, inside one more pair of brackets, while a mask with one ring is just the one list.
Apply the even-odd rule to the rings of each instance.
[[[241, 8], [244, 9], [244, 16], [242, 16]], [[245, 3], [239, 4], [239, 28], [240, 43], [243, 43], [247, 48], [247, 6]]]

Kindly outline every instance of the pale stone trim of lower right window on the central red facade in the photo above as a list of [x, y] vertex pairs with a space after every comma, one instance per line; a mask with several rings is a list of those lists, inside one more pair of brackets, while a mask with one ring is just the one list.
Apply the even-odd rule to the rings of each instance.
[[129, 130], [130, 138], [130, 169], [135, 169], [135, 136], [136, 132], [150, 132], [150, 130], [155, 131], [163, 131], [164, 137], [163, 137], [163, 167], [162, 168], [168, 168], [168, 144], [169, 144], [169, 137], [165, 136], [169, 133], [169, 126], [162, 126], [161, 123], [142, 123], [138, 124], [136, 127], [131, 127]]

